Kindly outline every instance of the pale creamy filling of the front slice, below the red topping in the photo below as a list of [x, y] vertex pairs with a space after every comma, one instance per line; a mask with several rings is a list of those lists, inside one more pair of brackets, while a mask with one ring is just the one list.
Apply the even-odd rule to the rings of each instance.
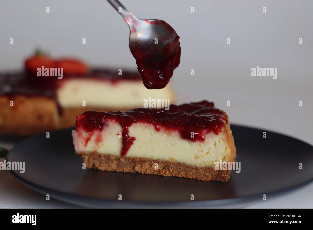
[[[177, 161], [194, 166], [214, 166], [216, 161], [231, 161], [231, 146], [228, 146], [227, 131], [205, 134], [204, 141], [183, 139], [177, 130], [171, 130], [147, 123], [133, 123], [129, 135], [136, 140], [130, 146], [126, 156]], [[101, 131], [73, 130], [76, 152], [97, 152], [100, 154], [121, 155], [123, 147], [121, 135], [123, 129], [119, 122], [106, 120]], [[119, 137], [120, 136], [120, 137]]]

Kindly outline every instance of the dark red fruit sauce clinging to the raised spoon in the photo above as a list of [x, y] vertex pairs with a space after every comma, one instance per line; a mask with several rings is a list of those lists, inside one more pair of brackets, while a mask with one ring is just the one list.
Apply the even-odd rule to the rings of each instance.
[[[144, 20], [148, 24], [160, 25], [166, 27], [167, 33], [175, 33], [174, 29], [162, 20]], [[131, 29], [136, 32], [136, 29]], [[162, 36], [159, 38], [159, 43], [166, 40]], [[141, 75], [143, 84], [147, 89], [162, 89], [169, 82], [173, 76], [174, 69], [180, 63], [181, 47], [179, 36], [176, 35], [172, 41], [167, 42], [164, 48], [158, 49], [157, 44], [154, 44], [154, 38], [151, 39], [149, 44], [130, 43], [131, 54], [136, 59], [138, 72]], [[144, 45], [145, 49], [138, 49]], [[163, 47], [163, 46], [162, 46]], [[153, 55], [152, 55], [153, 54]]]

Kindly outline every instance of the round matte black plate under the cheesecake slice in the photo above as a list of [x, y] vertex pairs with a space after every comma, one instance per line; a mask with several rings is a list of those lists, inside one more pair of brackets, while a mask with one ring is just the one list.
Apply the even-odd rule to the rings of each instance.
[[[313, 180], [313, 146], [266, 130], [232, 125], [241, 172], [228, 182], [82, 169], [71, 129], [29, 138], [7, 161], [25, 161], [10, 171], [27, 186], [87, 207], [200, 207], [267, 200]], [[266, 131], [266, 138], [263, 132]], [[303, 169], [299, 169], [299, 163]], [[122, 195], [122, 201], [118, 200]], [[194, 201], [190, 200], [194, 195]]]

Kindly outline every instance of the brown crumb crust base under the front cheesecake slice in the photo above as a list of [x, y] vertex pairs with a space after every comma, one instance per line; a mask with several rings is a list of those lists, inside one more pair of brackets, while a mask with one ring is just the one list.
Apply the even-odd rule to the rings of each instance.
[[[213, 167], [197, 167], [176, 161], [156, 160], [143, 157], [115, 156], [97, 152], [76, 152], [82, 156], [88, 168], [102, 171], [139, 172], [162, 176], [177, 176], [203, 181], [223, 181], [230, 178], [230, 170], [215, 170]], [[157, 163], [157, 168], [155, 164]]]

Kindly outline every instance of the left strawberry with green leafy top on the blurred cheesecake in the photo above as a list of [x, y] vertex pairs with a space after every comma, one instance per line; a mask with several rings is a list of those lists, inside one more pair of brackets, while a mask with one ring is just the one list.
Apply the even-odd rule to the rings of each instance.
[[56, 63], [54, 59], [51, 59], [49, 56], [36, 52], [36, 54], [25, 61], [26, 71], [29, 74], [37, 74], [37, 68], [55, 68]]

